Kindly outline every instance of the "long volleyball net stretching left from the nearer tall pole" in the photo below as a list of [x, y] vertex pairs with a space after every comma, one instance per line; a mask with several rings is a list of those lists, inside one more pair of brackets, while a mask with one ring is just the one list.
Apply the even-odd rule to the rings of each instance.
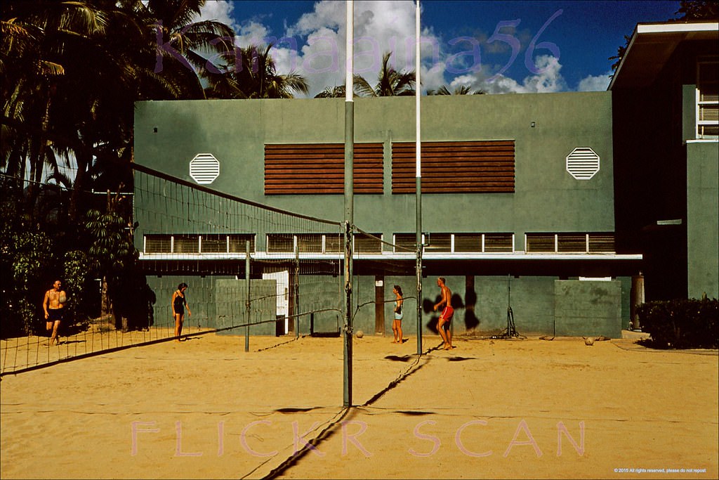
[[[73, 318], [69, 314], [77, 309], [68, 309], [59, 345], [47, 344], [42, 318], [26, 337], [2, 338], [0, 373], [174, 339], [171, 300], [180, 284], [188, 286], [183, 337], [341, 335], [347, 309], [345, 222], [247, 201], [144, 166], [132, 168], [133, 192], [116, 192], [117, 201], [106, 204], [127, 223], [122, 230], [139, 254], [134, 273], [114, 285], [93, 279], [96, 314]], [[354, 225], [349, 230], [357, 255], [413, 255], [409, 243], [395, 245]], [[361, 280], [357, 273], [352, 279], [352, 316], [367, 318], [368, 333], [375, 319], [387, 317], [381, 322], [391, 335], [392, 285], [414, 275], [413, 262], [389, 257], [382, 261], [385, 289], [377, 290], [372, 268]], [[411, 311], [414, 289], [404, 284], [405, 311]], [[64, 288], [70, 306], [82, 300], [67, 282]], [[374, 333], [383, 325], [377, 323]]]

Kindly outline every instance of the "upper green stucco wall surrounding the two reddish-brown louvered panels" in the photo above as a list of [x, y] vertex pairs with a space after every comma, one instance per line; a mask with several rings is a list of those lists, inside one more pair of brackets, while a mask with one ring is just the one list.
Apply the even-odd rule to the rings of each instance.
[[[412, 98], [356, 99], [354, 112], [355, 142], [415, 139]], [[518, 250], [524, 232], [612, 232], [611, 114], [608, 92], [423, 97], [423, 141], [516, 141], [514, 194], [425, 194], [423, 230], [516, 232]], [[191, 181], [193, 156], [213, 153], [221, 173], [212, 189], [315, 217], [344, 217], [342, 195], [265, 196], [262, 160], [265, 143], [344, 142], [343, 99], [149, 101], [137, 104], [135, 118], [137, 163]], [[565, 170], [577, 147], [601, 158], [588, 181]], [[390, 152], [385, 148], [385, 194], [356, 195], [354, 222], [385, 235], [413, 232], [415, 198], [391, 194]]]

